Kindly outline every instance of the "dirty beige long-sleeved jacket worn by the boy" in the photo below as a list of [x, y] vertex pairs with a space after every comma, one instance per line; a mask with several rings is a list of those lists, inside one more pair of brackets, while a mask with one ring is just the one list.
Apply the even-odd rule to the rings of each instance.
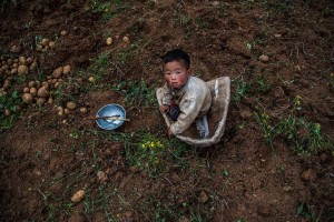
[[207, 113], [212, 104], [212, 93], [208, 85], [196, 77], [189, 77], [185, 87], [174, 90], [164, 85], [163, 104], [169, 105], [175, 102], [180, 114], [177, 121], [170, 125], [174, 134], [180, 134], [187, 130], [196, 118]]

